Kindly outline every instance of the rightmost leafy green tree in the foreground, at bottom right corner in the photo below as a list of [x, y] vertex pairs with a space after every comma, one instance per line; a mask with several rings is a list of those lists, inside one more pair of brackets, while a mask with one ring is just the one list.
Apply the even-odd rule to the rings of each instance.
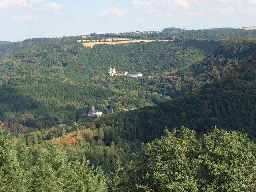
[[204, 136], [199, 155], [201, 191], [255, 191], [255, 147], [240, 132], [214, 130]]

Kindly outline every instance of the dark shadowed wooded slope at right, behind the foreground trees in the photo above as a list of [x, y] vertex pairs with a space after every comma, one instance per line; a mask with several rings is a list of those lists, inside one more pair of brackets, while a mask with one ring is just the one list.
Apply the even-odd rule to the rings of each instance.
[[247, 132], [256, 138], [256, 53], [249, 56], [230, 74], [202, 89], [112, 118], [96, 120], [103, 127], [105, 140], [118, 136], [144, 142], [162, 135], [162, 129], [187, 126], [198, 134], [209, 132], [214, 125], [226, 130]]

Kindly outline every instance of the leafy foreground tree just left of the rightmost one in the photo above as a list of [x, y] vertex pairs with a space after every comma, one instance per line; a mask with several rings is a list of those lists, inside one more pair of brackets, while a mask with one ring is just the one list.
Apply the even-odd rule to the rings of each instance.
[[194, 178], [198, 166], [196, 133], [185, 128], [177, 133], [175, 130], [166, 132], [168, 136], [142, 146], [141, 166], [136, 170], [142, 178], [138, 188], [143, 191], [198, 191]]

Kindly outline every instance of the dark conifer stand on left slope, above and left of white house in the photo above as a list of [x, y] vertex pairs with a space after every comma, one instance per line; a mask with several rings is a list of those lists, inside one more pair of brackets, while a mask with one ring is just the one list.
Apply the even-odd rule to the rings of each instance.
[[[2, 120], [42, 128], [74, 122], [96, 101], [103, 103], [112, 90], [94, 84], [74, 84], [49, 77], [17, 77], [0, 88]], [[4, 117], [4, 119], [3, 119]]]

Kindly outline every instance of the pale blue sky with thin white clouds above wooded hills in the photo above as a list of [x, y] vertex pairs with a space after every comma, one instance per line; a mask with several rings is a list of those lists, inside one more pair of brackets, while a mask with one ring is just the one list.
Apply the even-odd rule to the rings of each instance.
[[256, 0], [0, 0], [0, 40], [256, 26]]

